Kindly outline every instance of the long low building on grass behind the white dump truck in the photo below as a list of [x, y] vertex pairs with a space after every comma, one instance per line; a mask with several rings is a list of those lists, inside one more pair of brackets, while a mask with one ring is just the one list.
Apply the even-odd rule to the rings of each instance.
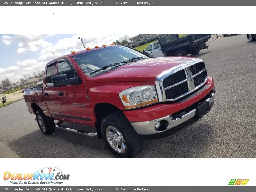
[[133, 41], [125, 44], [125, 46], [138, 47], [138, 46], [143, 45], [145, 43], [149, 43], [151, 41], [154, 41], [158, 37], [161, 37], [163, 35], [166, 35], [166, 34], [139, 34], [139, 35], [136, 35], [136, 36], [132, 37], [131, 39]]

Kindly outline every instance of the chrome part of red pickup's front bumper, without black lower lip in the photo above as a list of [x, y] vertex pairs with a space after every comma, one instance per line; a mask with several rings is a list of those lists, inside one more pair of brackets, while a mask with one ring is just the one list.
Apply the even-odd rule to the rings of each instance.
[[[209, 106], [213, 105], [213, 101], [214, 101], [216, 93], [211, 93], [211, 94], [212, 94], [212, 96], [205, 100], [205, 101], [209, 102]], [[131, 125], [133, 126], [133, 128], [139, 135], [154, 135], [157, 133], [163, 133], [167, 130], [170, 130], [173, 127], [176, 127], [176, 126], [188, 121], [189, 119], [191, 119], [195, 116], [195, 113], [196, 113], [196, 109], [193, 109], [193, 110], [189, 111], [188, 113], [182, 115], [181, 118], [174, 118], [172, 115], [167, 115], [166, 117], [162, 117], [162, 118], [155, 119], [152, 121], [131, 122]], [[168, 125], [167, 129], [164, 131], [157, 131], [157, 130], [155, 130], [155, 124], [161, 120], [168, 121], [169, 125]]]

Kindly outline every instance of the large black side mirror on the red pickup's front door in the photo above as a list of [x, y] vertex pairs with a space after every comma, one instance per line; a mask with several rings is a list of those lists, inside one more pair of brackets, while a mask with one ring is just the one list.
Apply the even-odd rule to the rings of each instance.
[[56, 75], [52, 78], [54, 87], [61, 87], [66, 85], [75, 85], [80, 83], [80, 79], [78, 77], [73, 77], [67, 79], [66, 74]]

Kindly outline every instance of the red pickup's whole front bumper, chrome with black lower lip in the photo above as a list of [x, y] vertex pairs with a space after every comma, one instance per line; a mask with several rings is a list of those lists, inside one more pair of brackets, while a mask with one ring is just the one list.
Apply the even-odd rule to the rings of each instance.
[[[214, 98], [216, 93], [210, 93], [207, 95], [207, 97], [203, 101], [209, 102], [209, 107], [211, 107], [214, 104]], [[203, 102], [202, 101], [202, 102]], [[196, 114], [196, 106], [194, 106], [193, 109], [190, 109], [185, 114], [181, 115], [180, 118], [174, 117], [172, 114], [167, 115], [162, 118], [158, 118], [152, 121], [144, 121], [144, 122], [131, 122], [131, 125], [135, 129], [135, 131], [145, 138], [162, 138], [166, 137], [168, 135], [174, 134], [185, 127], [193, 124], [196, 122], [199, 118], [195, 118]], [[168, 127], [164, 131], [157, 131], [155, 129], [155, 124], [161, 120], [166, 120], [168, 122]]]

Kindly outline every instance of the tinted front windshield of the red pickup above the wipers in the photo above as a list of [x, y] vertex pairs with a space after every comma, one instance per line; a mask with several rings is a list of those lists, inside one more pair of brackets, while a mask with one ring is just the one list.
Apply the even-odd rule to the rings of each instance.
[[72, 58], [77, 62], [83, 72], [90, 77], [102, 73], [102, 71], [106, 72], [110, 70], [110, 68], [106, 68], [90, 75], [90, 73], [99, 70], [102, 67], [115, 63], [122, 63], [135, 57], [147, 58], [146, 55], [124, 46], [104, 47], [75, 55]]

